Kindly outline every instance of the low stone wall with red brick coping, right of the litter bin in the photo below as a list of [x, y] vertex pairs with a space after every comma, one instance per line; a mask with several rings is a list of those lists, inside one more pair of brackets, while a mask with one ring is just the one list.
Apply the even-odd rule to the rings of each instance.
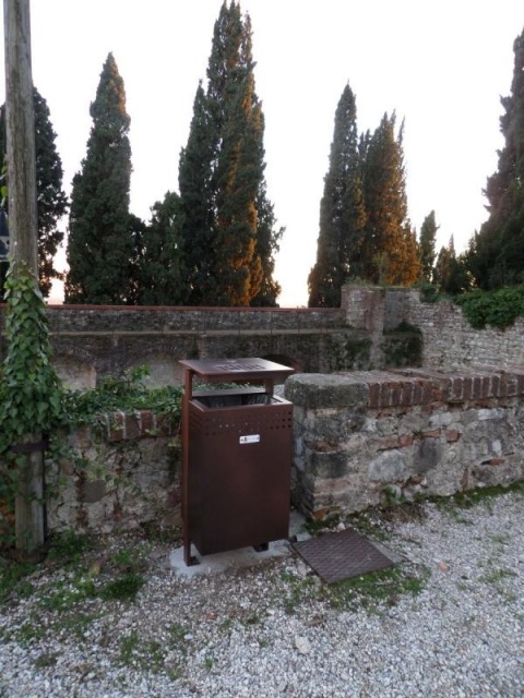
[[524, 368], [289, 377], [293, 498], [307, 515], [524, 477]]

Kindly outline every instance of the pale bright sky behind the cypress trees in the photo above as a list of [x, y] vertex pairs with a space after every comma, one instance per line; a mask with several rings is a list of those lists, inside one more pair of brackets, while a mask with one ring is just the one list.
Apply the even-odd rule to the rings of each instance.
[[[133, 174], [131, 212], [178, 191], [194, 94], [223, 0], [33, 0], [33, 80], [47, 100], [64, 169], [86, 154], [88, 113], [112, 51], [124, 81]], [[307, 305], [336, 105], [346, 83], [359, 132], [384, 112], [405, 120], [409, 217], [436, 212], [438, 248], [462, 251], [486, 219], [497, 168], [500, 97], [510, 94], [522, 0], [241, 0], [253, 28], [265, 116], [269, 197], [286, 231], [277, 255], [281, 306]], [[3, 24], [2, 24], [3, 27]], [[3, 41], [2, 59], [3, 67]], [[4, 100], [4, 80], [0, 85]], [[63, 266], [62, 251], [59, 266]], [[52, 300], [60, 298], [57, 286]]]

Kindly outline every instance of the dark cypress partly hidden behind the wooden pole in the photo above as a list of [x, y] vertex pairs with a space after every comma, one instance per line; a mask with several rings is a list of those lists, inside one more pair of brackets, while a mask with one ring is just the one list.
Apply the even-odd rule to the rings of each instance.
[[[68, 210], [68, 197], [62, 189], [62, 160], [55, 141], [57, 134], [50, 120], [47, 101], [36, 87], [33, 88], [35, 112], [35, 169], [38, 219], [38, 280], [43, 296], [47, 298], [52, 279], [62, 278], [55, 268], [55, 255], [63, 240], [63, 231], [57, 226]], [[0, 108], [0, 157], [5, 156], [5, 105]], [[5, 265], [2, 265], [4, 267]], [[3, 289], [3, 278], [1, 288]]]

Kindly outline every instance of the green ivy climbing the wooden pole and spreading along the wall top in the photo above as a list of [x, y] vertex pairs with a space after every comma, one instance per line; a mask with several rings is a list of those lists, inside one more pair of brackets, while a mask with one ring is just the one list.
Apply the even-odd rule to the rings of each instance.
[[[51, 365], [45, 304], [36, 277], [25, 265], [20, 270], [12, 267], [7, 288], [8, 354], [0, 374], [0, 542], [10, 545], [20, 468], [25, 462], [15, 447], [24, 436], [52, 436], [66, 426], [97, 424], [98, 416], [115, 410], [152, 409], [178, 419], [181, 388], [147, 389], [143, 382], [147, 370], [142, 366], [119, 378], [107, 377], [94, 390], [66, 392]], [[63, 446], [53, 438], [49, 448], [51, 458], [59, 458]], [[79, 541], [72, 546], [79, 547]]]

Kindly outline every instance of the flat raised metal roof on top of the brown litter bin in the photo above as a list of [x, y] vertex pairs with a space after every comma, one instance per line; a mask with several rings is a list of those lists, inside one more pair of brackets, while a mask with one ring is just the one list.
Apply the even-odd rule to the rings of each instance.
[[282, 378], [295, 373], [294, 369], [267, 359], [200, 359], [179, 361], [203, 378], [216, 381], [254, 381], [257, 378]]

